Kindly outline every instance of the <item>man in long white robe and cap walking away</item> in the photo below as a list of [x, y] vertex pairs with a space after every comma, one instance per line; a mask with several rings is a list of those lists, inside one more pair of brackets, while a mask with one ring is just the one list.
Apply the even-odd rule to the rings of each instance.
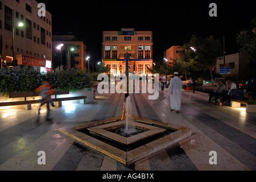
[[175, 110], [176, 113], [179, 113], [181, 110], [181, 88], [182, 88], [182, 80], [178, 77], [179, 73], [174, 72], [174, 77], [171, 78], [170, 86], [169, 86], [169, 94], [170, 94], [170, 107], [171, 110]]

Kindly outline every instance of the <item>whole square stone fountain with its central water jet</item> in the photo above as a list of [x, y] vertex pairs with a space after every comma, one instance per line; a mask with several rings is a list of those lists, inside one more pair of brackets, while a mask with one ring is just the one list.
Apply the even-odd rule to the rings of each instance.
[[[126, 65], [127, 62], [126, 59]], [[122, 118], [106, 118], [82, 126], [65, 127], [58, 131], [125, 166], [190, 137], [191, 130], [185, 126], [132, 115], [131, 104], [129, 93], [125, 93]]]

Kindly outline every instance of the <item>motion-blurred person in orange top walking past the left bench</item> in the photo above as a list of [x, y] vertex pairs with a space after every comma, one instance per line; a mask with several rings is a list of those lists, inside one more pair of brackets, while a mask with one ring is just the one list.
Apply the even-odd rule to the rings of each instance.
[[46, 104], [47, 108], [47, 114], [46, 114], [46, 120], [50, 121], [49, 114], [50, 114], [50, 104], [51, 106], [55, 107], [53, 100], [51, 99], [51, 94], [53, 93], [53, 87], [50, 85], [50, 81], [46, 79], [43, 81], [43, 85], [39, 86], [39, 88], [35, 89], [35, 91], [38, 93], [39, 96], [42, 96], [41, 105], [38, 109], [38, 121], [39, 121], [39, 115], [41, 106]]

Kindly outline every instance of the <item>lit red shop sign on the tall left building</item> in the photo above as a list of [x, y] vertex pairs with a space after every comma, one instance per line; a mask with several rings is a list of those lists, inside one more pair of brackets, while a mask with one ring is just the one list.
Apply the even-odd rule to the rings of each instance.
[[34, 67], [45, 67], [46, 60], [37, 57], [30, 57], [25, 55], [17, 55], [18, 65], [30, 65]]

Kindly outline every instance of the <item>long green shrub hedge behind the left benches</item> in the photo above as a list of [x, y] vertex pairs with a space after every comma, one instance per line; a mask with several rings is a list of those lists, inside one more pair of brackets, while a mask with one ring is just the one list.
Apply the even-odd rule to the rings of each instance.
[[39, 71], [28, 68], [0, 69], [0, 93], [34, 92], [48, 78], [56, 90], [71, 92], [91, 87], [92, 77], [86, 71], [65, 69], [59, 72], [48, 72], [42, 75]]

